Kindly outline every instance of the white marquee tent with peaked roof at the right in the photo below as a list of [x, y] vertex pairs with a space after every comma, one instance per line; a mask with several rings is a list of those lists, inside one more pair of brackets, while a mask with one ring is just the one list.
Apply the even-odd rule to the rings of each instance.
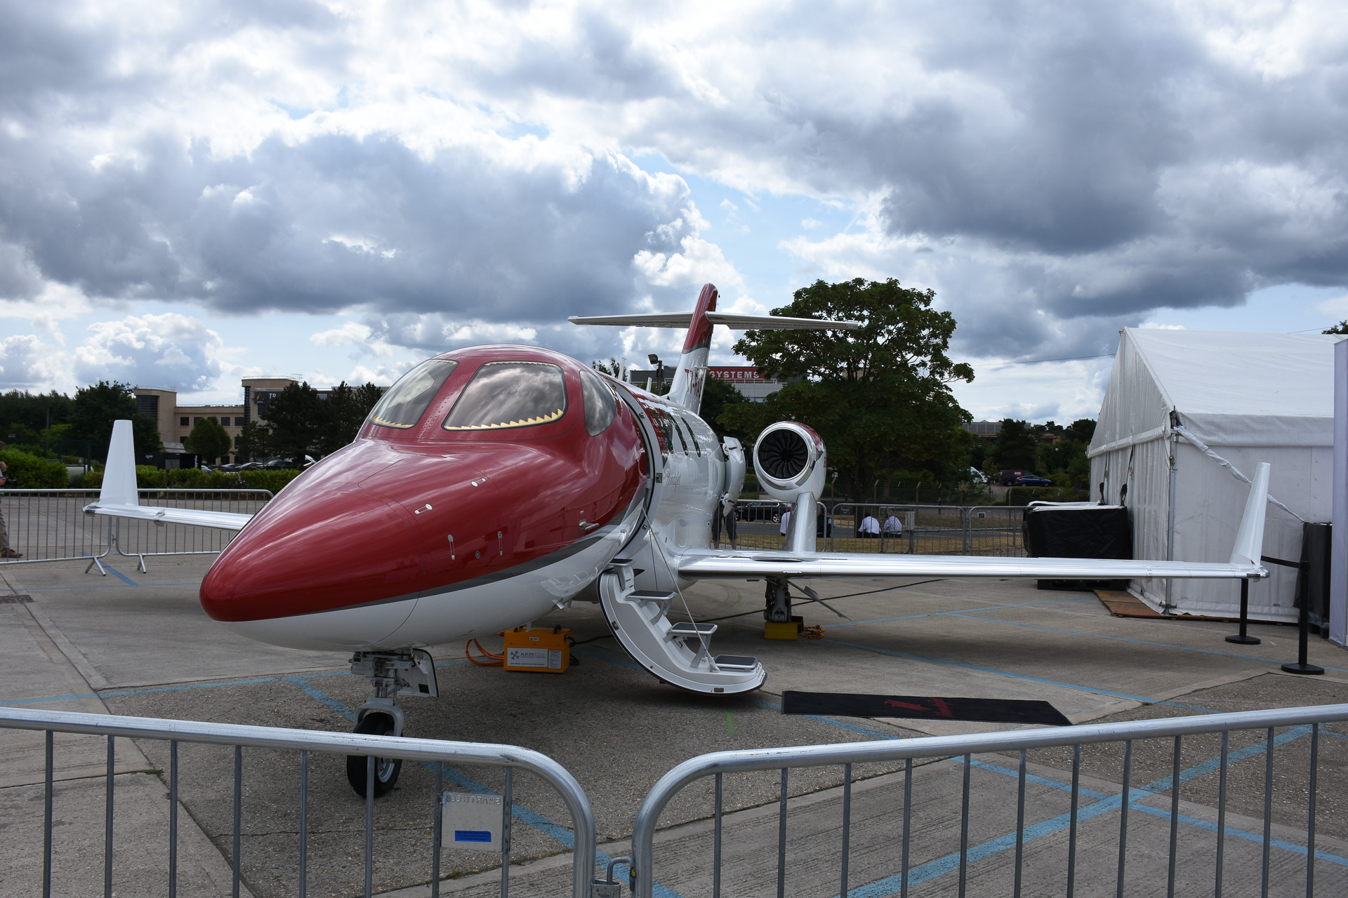
[[[1131, 509], [1134, 557], [1225, 561], [1250, 493], [1232, 469], [1251, 475], [1268, 462], [1268, 494], [1285, 508], [1268, 504], [1263, 552], [1301, 559], [1302, 520], [1330, 516], [1339, 339], [1120, 331], [1088, 455], [1092, 499]], [[1250, 617], [1294, 621], [1295, 569], [1266, 567], [1273, 576], [1251, 584]], [[1240, 606], [1227, 580], [1134, 580], [1131, 590], [1170, 614], [1233, 617]]]

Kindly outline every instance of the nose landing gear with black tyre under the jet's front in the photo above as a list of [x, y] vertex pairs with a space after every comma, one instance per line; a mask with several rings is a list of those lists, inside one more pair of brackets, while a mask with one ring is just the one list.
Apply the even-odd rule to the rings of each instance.
[[[399, 695], [435, 697], [435, 662], [421, 649], [392, 652], [357, 652], [350, 656], [350, 672], [369, 680], [375, 692], [365, 704], [356, 708], [356, 732], [372, 736], [403, 735], [403, 710], [395, 699]], [[356, 794], [365, 796], [365, 774], [369, 762], [365, 755], [346, 755], [346, 781]], [[398, 774], [402, 758], [375, 758], [375, 797], [387, 794]]]

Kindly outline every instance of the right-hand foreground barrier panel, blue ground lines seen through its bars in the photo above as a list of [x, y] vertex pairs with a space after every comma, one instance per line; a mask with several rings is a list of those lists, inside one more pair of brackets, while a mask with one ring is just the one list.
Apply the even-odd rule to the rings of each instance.
[[[1277, 894], [1314, 895], [1317, 885], [1318, 894], [1348, 894], [1348, 858], [1317, 848], [1316, 835], [1321, 732], [1341, 720], [1348, 704], [705, 754], [661, 777], [642, 802], [632, 831], [635, 894], [654, 898], [656, 875], [665, 893], [721, 898], [721, 885], [732, 882], [762, 883], [754, 890], [762, 894], [774, 866], [779, 898], [907, 895], [922, 883], [922, 894], [961, 898], [971, 889], [1070, 898], [1123, 895], [1126, 887], [1173, 898], [1221, 895], [1224, 880], [1240, 894], [1254, 894], [1258, 882], [1268, 895], [1271, 872]], [[1281, 746], [1289, 750], [1275, 777]], [[1031, 771], [1031, 751], [1047, 766]], [[923, 767], [917, 784], [915, 766]], [[821, 794], [828, 771], [811, 771], [790, 817], [790, 771], [802, 767], [833, 767], [841, 794]], [[755, 773], [772, 774], [771, 784]], [[727, 790], [741, 788], [733, 774], [751, 781], [752, 798], [739, 802], [745, 819], [727, 827]], [[696, 845], [674, 837], [658, 859], [661, 813], [702, 778], [712, 832]], [[763, 808], [768, 789], [778, 796], [771, 816]], [[1275, 792], [1282, 820], [1298, 821], [1279, 823], [1277, 837]], [[853, 832], [857, 819], [864, 825]], [[728, 837], [736, 835], [740, 844]], [[952, 879], [944, 889], [931, 882], [941, 876]]]

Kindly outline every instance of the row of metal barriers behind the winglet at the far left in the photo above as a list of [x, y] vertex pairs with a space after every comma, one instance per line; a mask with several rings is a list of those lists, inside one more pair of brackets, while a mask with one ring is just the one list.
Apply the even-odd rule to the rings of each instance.
[[[237, 514], [256, 514], [272, 498], [270, 490], [143, 489], [139, 493], [142, 502], [151, 505]], [[231, 530], [84, 514], [84, 508], [97, 498], [98, 490], [0, 490], [7, 547], [22, 553], [22, 557], [0, 557], [0, 564], [82, 560], [93, 567], [116, 549], [119, 555], [136, 557], [144, 569], [147, 556], [214, 555], [235, 537]]]

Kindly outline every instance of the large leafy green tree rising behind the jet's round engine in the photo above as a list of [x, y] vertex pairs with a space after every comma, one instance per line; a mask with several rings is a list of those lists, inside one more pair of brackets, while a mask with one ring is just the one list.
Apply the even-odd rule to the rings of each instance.
[[727, 427], [756, 435], [774, 420], [813, 427], [829, 450], [840, 487], [869, 495], [895, 471], [953, 474], [971, 448], [960, 427], [971, 420], [950, 393], [973, 369], [946, 355], [956, 322], [931, 308], [936, 293], [890, 279], [822, 280], [795, 291], [776, 315], [860, 320], [857, 330], [747, 331], [735, 351], [766, 377], [790, 380], [766, 403], [732, 405]]

